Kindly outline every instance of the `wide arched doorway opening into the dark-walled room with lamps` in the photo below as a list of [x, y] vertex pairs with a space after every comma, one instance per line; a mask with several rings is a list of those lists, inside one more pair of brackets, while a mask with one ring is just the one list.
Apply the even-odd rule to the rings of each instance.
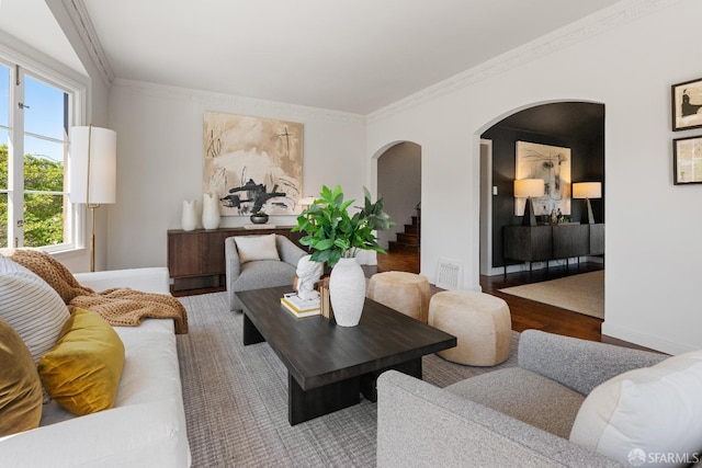
[[[530, 327], [541, 328], [547, 331], [563, 332], [564, 323], [569, 327], [568, 333], [575, 333], [580, 338], [592, 339], [599, 335], [599, 327], [604, 317], [604, 277], [603, 277], [603, 255], [590, 255], [589, 253], [570, 255], [556, 255], [556, 237], [558, 242], [563, 242], [563, 235], [573, 232], [587, 232], [585, 242], [592, 242], [591, 232], [602, 232], [602, 252], [604, 236], [604, 105], [586, 102], [557, 102], [535, 105], [516, 112], [501, 121], [486, 128], [480, 134], [480, 220], [489, 224], [491, 229], [480, 229], [480, 256], [482, 260], [489, 256], [485, 264], [480, 265], [480, 286], [484, 292], [502, 295], [510, 307], [514, 306], [512, 313], [518, 317], [517, 321], [531, 323]], [[580, 226], [579, 221], [584, 212], [585, 201], [570, 201], [570, 210], [567, 213], [569, 224], [562, 225], [550, 222], [548, 216], [543, 215], [540, 226], [534, 229], [540, 232], [548, 232], [544, 238], [548, 247], [553, 249], [553, 254], [546, 254], [553, 260], [520, 262], [514, 258], [503, 255], [505, 247], [521, 243], [513, 238], [506, 237], [507, 230], [514, 232], [523, 229], [523, 217], [517, 215], [514, 197], [514, 180], [517, 178], [517, 153], [519, 144], [532, 144], [535, 146], [548, 146], [566, 148], [570, 160], [570, 180], [568, 181], [567, 195], [570, 198], [570, 183], [575, 182], [600, 182], [601, 197], [592, 199], [596, 224]], [[536, 155], [537, 162], [544, 160], [543, 155]], [[547, 159], [547, 158], [546, 158]], [[544, 160], [545, 161], [545, 160]], [[541, 164], [541, 162], [539, 162]], [[489, 198], [490, 203], [486, 203]], [[541, 201], [540, 203], [548, 202]], [[486, 209], [489, 213], [486, 213]], [[543, 225], [543, 226], [541, 226]], [[581, 229], [582, 228], [582, 229]], [[525, 229], [533, 233], [530, 226]], [[558, 231], [558, 232], [557, 232]], [[578, 238], [580, 239], [580, 238]], [[580, 240], [567, 238], [573, 246], [580, 246]], [[543, 242], [537, 246], [529, 243], [526, 249], [540, 249]], [[590, 251], [595, 252], [592, 243]], [[567, 250], [568, 252], [570, 250]], [[510, 253], [511, 254], [511, 253]], [[506, 258], [507, 256], [507, 258]], [[585, 262], [581, 265], [580, 260]], [[522, 259], [523, 260], [523, 259]], [[532, 274], [532, 266], [534, 272]], [[578, 275], [574, 281], [566, 276]], [[586, 275], [588, 278], [586, 279]], [[555, 281], [550, 281], [555, 279]], [[568, 279], [568, 281], [562, 281]], [[519, 292], [512, 286], [528, 283], [548, 281], [537, 288], [542, 289], [542, 296], [526, 294], [524, 287]], [[573, 288], [573, 284], [577, 288]], [[588, 293], [584, 293], [580, 286], [588, 284]], [[570, 286], [568, 286], [570, 285]], [[532, 287], [535, 285], [529, 285]], [[554, 288], [558, 288], [557, 290]], [[531, 289], [533, 293], [534, 289]], [[499, 292], [499, 293], [498, 293]], [[545, 292], [545, 293], [544, 293]], [[517, 300], [514, 300], [517, 297]], [[556, 300], [555, 298], [558, 297]], [[524, 300], [526, 298], [526, 300]], [[580, 305], [564, 299], [577, 298]], [[512, 301], [512, 303], [510, 303]], [[587, 307], [580, 307], [587, 304]], [[557, 307], [558, 310], [553, 309]], [[598, 307], [596, 307], [598, 306]], [[542, 308], [550, 309], [542, 309]], [[573, 313], [578, 311], [580, 313]], [[589, 316], [589, 317], [588, 317]], [[517, 328], [516, 328], [517, 329]], [[518, 329], [517, 329], [518, 330]], [[574, 330], [577, 330], [574, 332]], [[591, 330], [597, 330], [592, 333]], [[519, 330], [518, 330], [519, 331]]]

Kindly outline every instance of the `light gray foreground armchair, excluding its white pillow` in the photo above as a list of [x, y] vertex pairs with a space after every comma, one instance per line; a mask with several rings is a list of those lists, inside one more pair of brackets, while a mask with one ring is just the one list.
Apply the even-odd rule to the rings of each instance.
[[528, 330], [517, 367], [443, 389], [386, 372], [377, 380], [377, 466], [625, 466], [569, 442], [570, 426], [599, 384], [666, 357]]

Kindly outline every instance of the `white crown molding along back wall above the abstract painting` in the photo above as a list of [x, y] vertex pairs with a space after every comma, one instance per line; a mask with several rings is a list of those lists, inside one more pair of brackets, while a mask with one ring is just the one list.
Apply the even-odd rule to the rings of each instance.
[[350, 112], [332, 111], [321, 107], [268, 101], [215, 91], [194, 90], [170, 84], [116, 78], [114, 87], [162, 99], [174, 98], [200, 102], [203, 107], [218, 112], [244, 112], [258, 116], [275, 116], [276, 118], [294, 118], [299, 122], [326, 121], [365, 125], [365, 116]]

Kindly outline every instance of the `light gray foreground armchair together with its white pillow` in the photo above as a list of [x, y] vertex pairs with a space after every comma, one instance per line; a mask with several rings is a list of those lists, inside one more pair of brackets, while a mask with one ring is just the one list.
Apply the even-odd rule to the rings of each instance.
[[702, 351], [526, 330], [518, 361], [445, 388], [383, 373], [377, 466], [702, 467]]

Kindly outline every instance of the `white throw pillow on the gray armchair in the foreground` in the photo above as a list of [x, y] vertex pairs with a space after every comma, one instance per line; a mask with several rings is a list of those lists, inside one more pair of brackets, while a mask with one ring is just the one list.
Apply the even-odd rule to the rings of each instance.
[[570, 441], [624, 464], [687, 466], [702, 456], [701, 396], [702, 350], [630, 370], [590, 392]]

